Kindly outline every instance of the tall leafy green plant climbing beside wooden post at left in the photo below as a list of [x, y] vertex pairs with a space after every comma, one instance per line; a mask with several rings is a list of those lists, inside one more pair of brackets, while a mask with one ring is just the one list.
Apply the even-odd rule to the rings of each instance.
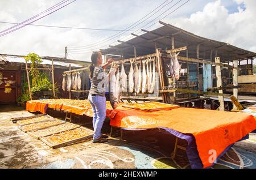
[[37, 84], [37, 80], [39, 78], [40, 72], [37, 69], [38, 65], [40, 63], [42, 63], [43, 61], [41, 60], [41, 58], [39, 57], [38, 54], [35, 53], [29, 53], [27, 54], [27, 56], [25, 57], [27, 62], [31, 62], [30, 68], [31, 68], [31, 76], [32, 76], [32, 86], [35, 86]]

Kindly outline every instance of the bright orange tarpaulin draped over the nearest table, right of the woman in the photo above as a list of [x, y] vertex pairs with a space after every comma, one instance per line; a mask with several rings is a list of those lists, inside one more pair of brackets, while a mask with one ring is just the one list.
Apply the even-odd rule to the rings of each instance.
[[145, 112], [118, 106], [112, 114], [111, 126], [128, 129], [166, 127], [193, 134], [204, 168], [212, 165], [210, 150], [215, 150], [218, 157], [230, 144], [256, 129], [255, 118], [246, 113], [192, 108]]

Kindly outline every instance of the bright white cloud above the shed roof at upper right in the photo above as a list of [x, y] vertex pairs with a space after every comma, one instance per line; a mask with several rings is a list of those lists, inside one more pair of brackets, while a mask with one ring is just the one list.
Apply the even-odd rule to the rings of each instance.
[[191, 14], [188, 18], [167, 19], [177, 27], [196, 35], [228, 42], [240, 48], [256, 52], [256, 1], [236, 0], [243, 3], [245, 10], [238, 6], [238, 12], [229, 14], [221, 0], [209, 2], [202, 11]]

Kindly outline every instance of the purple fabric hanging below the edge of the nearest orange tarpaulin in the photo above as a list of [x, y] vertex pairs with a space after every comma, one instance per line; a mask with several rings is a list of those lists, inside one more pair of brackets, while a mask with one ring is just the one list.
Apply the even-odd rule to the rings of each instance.
[[[199, 152], [197, 151], [197, 146], [196, 146], [196, 140], [195, 137], [192, 134], [183, 134], [181, 132], [175, 131], [173, 129], [170, 128], [166, 128], [166, 127], [158, 127], [158, 128], [162, 128], [163, 130], [166, 130], [167, 132], [169, 132], [170, 134], [176, 136], [177, 138], [180, 139], [185, 139], [188, 143], [187, 147], [186, 147], [186, 153], [188, 156], [188, 161], [189, 164], [191, 165], [192, 169], [202, 169], [203, 168], [203, 163], [199, 157]], [[128, 131], [143, 131], [143, 130], [150, 130], [153, 128], [144, 128], [144, 129], [130, 129], [130, 128], [122, 128], [123, 130], [128, 130]], [[249, 135], [246, 135], [245, 137], [243, 137], [241, 140], [245, 140], [248, 139]], [[238, 140], [237, 142], [241, 141]], [[230, 144], [222, 153], [220, 156], [217, 157], [216, 161], [218, 161], [223, 155], [225, 155], [225, 153], [232, 147], [232, 145], [234, 144]], [[213, 166], [214, 164], [212, 164]], [[212, 167], [210, 166], [210, 167]], [[208, 167], [208, 168], [210, 168]]]

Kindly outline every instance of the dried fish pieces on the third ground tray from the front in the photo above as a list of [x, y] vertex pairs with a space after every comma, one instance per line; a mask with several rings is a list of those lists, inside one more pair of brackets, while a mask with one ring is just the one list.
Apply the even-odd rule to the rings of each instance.
[[19, 126], [19, 128], [20, 130], [27, 132], [27, 131], [39, 130], [39, 129], [47, 128], [51, 126], [61, 125], [63, 123], [65, 122], [58, 121], [58, 120], [48, 120], [48, 121], [36, 122], [28, 125]]

